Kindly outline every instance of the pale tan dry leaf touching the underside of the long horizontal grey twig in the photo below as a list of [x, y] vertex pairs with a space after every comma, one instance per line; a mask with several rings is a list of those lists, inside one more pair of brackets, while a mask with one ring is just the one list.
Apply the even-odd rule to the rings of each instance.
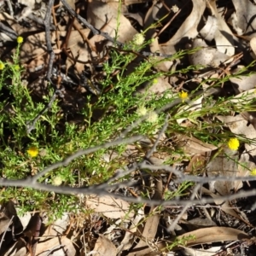
[[102, 213], [107, 218], [132, 218], [133, 211], [130, 211], [128, 202], [121, 199], [114, 199], [109, 195], [93, 197], [86, 200], [86, 206], [95, 212]]

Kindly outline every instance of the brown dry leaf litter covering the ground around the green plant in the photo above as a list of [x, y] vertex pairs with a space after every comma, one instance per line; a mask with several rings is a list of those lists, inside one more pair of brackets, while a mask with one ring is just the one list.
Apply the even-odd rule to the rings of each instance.
[[[15, 10], [17, 13], [13, 15], [13, 11], [9, 8], [13, 3], [9, 3], [8, 7], [8, 2], [1, 5], [0, 20], [1, 24], [4, 24], [1, 26], [0, 33], [1, 60], [12, 61], [14, 47], [9, 45], [9, 42], [15, 41], [14, 38], [17, 35], [22, 35], [25, 42], [20, 48], [20, 63], [26, 68], [24, 79], [28, 83], [28, 88], [32, 90], [32, 96], [42, 99], [47, 93], [47, 88], [42, 87], [42, 84], [49, 66], [49, 49], [44, 22], [42, 22], [48, 3], [47, 1], [45, 3], [44, 1], [18, 1], [19, 9]], [[201, 122], [204, 122], [204, 120], [197, 120], [195, 124], [193, 114], [200, 113], [202, 103], [209, 96], [207, 89], [212, 89], [211, 86], [214, 84], [211, 82], [213, 79], [222, 79], [224, 76], [229, 78], [218, 90], [210, 93], [215, 96], [212, 98], [212, 106], [218, 96], [224, 97], [226, 104], [236, 103], [237, 109], [249, 101], [253, 106], [255, 74], [252, 72], [255, 68], [252, 65], [248, 71], [242, 73], [245, 66], [255, 61], [253, 14], [256, 7], [253, 1], [246, 0], [241, 3], [241, 1], [232, 0], [222, 3], [204, 0], [159, 2], [137, 0], [122, 1], [121, 4], [117, 1], [88, 1], [86, 5], [79, 1], [75, 1], [75, 4], [73, 1], [67, 1], [67, 3], [73, 9], [75, 7], [80, 9], [80, 15], [86, 17], [90, 25], [102, 32], [102, 34], [91, 36], [90, 29], [74, 20], [61, 2], [55, 3], [53, 13], [58, 23], [54, 23], [54, 20], [50, 22], [50, 43], [55, 52], [55, 63], [62, 61], [63, 84], [61, 86], [64, 91], [61, 108], [63, 113], [66, 111], [67, 120], [74, 123], [81, 122], [78, 113], [84, 107], [84, 103], [79, 105], [79, 102], [84, 102], [87, 95], [96, 95], [97, 88], [91, 90], [88, 87], [85, 89], [80, 87], [80, 78], [84, 72], [84, 65], [88, 65], [90, 73], [93, 73], [96, 79], [94, 63], [108, 61], [106, 46], [113, 46], [113, 42], [109, 42], [103, 33], [108, 33], [114, 38], [117, 24], [119, 24], [118, 40], [122, 44], [131, 42], [138, 32], [147, 29], [146, 40], [154, 38], [149, 44], [151, 52], [173, 55], [180, 49], [197, 48], [198, 50], [189, 55], [189, 58], [161, 61], [155, 65], [154, 71], [150, 71], [151, 74], [155, 71], [166, 72], [170, 69], [177, 72], [178, 67], [200, 65], [196, 73], [189, 73], [189, 76], [177, 73], [177, 76], [172, 77], [175, 81], [173, 83], [162, 76], [151, 88], [150, 84], [146, 84], [146, 87], [138, 90], [138, 93], [143, 95], [149, 90], [161, 96], [167, 90], [172, 90], [172, 93], [177, 93], [183, 88], [192, 91], [195, 90], [195, 84], [197, 86], [201, 83], [203, 96], [177, 109], [177, 113], [180, 114], [177, 124], [189, 132], [165, 133], [165, 139], [160, 142], [160, 146], [166, 148], [166, 151], [155, 150], [154, 158], [166, 159], [167, 155], [167, 158], [175, 162], [174, 166], [183, 166], [181, 171], [193, 173], [199, 177], [213, 178], [194, 191], [194, 186], [183, 189], [181, 183], [176, 183], [174, 172], [164, 172], [164, 168], [159, 168], [152, 175], [149, 175], [147, 170], [142, 170], [138, 175], [141, 175], [140, 178], [137, 177], [138, 172], [132, 172], [132, 179], [139, 179], [135, 187], [128, 186], [125, 189], [112, 190], [113, 194], [123, 194], [123, 199], [116, 199], [110, 195], [90, 195], [86, 199], [81, 199], [84, 208], [90, 213], [79, 212], [73, 216], [71, 212], [67, 212], [52, 224], [48, 224], [49, 217], [44, 216], [44, 212], [40, 215], [26, 212], [25, 220], [15, 210], [15, 207], [19, 208], [19, 202], [8, 201], [1, 209], [1, 255], [21, 256], [27, 253], [30, 255], [164, 255], [173, 251], [177, 255], [208, 255], [206, 252], [209, 245], [212, 245], [211, 253], [213, 254], [211, 255], [217, 255], [216, 253], [238, 255], [241, 247], [247, 248], [246, 251], [240, 252], [241, 255], [253, 255], [250, 253], [250, 250], [255, 250], [253, 245], [255, 232], [254, 229], [252, 230], [255, 224], [255, 218], [252, 218], [255, 214], [253, 201], [249, 198], [237, 201], [222, 199], [223, 196], [236, 194], [237, 191], [250, 189], [253, 186], [251, 182], [243, 182], [243, 178], [248, 177], [255, 169], [256, 117], [253, 109], [242, 113], [238, 113], [236, 109], [230, 109], [227, 115], [214, 116], [223, 129], [229, 130], [230, 134], [240, 138], [242, 146], [237, 152], [230, 152], [222, 146], [207, 143], [191, 132], [193, 129], [200, 130]], [[174, 6], [177, 12], [173, 11]], [[166, 19], [161, 20], [165, 16]], [[158, 26], [151, 26], [148, 29], [148, 26], [154, 22], [158, 22]], [[27, 23], [32, 25], [25, 26]], [[249, 45], [252, 50], [249, 50]], [[121, 49], [119, 50], [121, 52]], [[62, 58], [61, 55], [66, 57]], [[154, 58], [159, 61], [164, 60], [163, 56]], [[132, 61], [130, 67], [127, 67], [127, 75], [134, 72], [142, 60], [138, 55], [137, 61]], [[237, 61], [241, 61], [243, 66], [238, 67]], [[54, 68], [53, 71], [55, 70]], [[241, 75], [236, 76], [236, 73]], [[57, 72], [52, 75], [56, 77]], [[41, 84], [41, 87], [37, 84]], [[181, 87], [178, 89], [177, 85], [180, 84]], [[227, 99], [230, 95], [235, 97], [231, 100]], [[182, 113], [185, 111], [190, 111], [191, 116], [183, 118]], [[96, 113], [94, 119], [100, 118], [101, 115]], [[207, 121], [211, 122], [210, 119]], [[154, 141], [156, 138], [154, 137]], [[139, 155], [144, 150], [147, 154], [148, 148], [154, 146], [154, 141], [141, 143], [140, 150], [137, 150], [137, 146], [130, 146], [127, 152], [132, 151], [132, 154]], [[172, 154], [174, 150], [171, 150], [170, 156], [170, 148], [179, 148], [183, 154], [178, 156], [177, 153]], [[219, 148], [222, 149], [218, 150]], [[125, 156], [128, 158], [129, 154]], [[113, 159], [110, 154], [105, 155], [104, 158], [107, 158], [108, 162]], [[134, 158], [136, 159], [133, 157], [133, 160]], [[126, 160], [127, 166], [129, 161], [131, 164], [131, 160]], [[102, 160], [102, 165], [104, 162], [107, 161]], [[160, 165], [162, 163], [163, 161], [160, 161]], [[226, 177], [226, 179], [222, 180], [218, 177]], [[176, 194], [177, 190], [182, 191], [182, 195]], [[192, 200], [190, 195], [194, 193], [193, 191], [196, 198], [201, 199], [202, 196], [207, 195], [213, 199], [214, 203], [209, 205], [201, 201], [201, 204], [190, 204], [185, 214], [182, 212], [183, 206], [172, 203], [172, 199]], [[146, 193], [149, 199], [156, 201], [163, 201], [165, 196], [169, 195], [170, 205], [150, 207], [143, 204], [136, 210], [131, 208], [130, 202], [125, 201], [125, 195], [137, 198], [143, 193]], [[176, 224], [173, 231], [168, 230], [163, 217], [165, 216], [172, 223], [179, 214], [182, 214], [180, 222]], [[211, 219], [212, 223], [218, 226], [196, 227], [192, 224], [195, 218], [201, 219], [201, 222], [207, 218]], [[186, 221], [183, 221], [184, 219]], [[189, 230], [192, 225], [195, 230]], [[185, 236], [189, 239], [183, 241]], [[227, 247], [216, 246], [216, 243], [228, 246], [224, 241], [236, 241], [235, 246], [230, 245], [232, 254], [228, 254]], [[201, 251], [203, 251], [202, 254], [199, 254]]]

